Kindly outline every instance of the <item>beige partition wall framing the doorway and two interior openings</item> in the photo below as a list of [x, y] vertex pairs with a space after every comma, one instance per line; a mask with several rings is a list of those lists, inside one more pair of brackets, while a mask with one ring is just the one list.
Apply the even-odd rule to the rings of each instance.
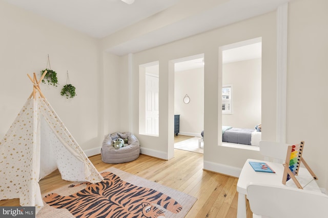
[[[241, 168], [247, 158], [261, 158], [256, 151], [218, 146], [221, 144], [218, 141], [218, 126], [221, 126], [221, 117], [218, 119], [218, 90], [222, 87], [222, 81], [219, 79], [222, 77], [222, 70], [219, 71], [218, 68], [219, 47], [257, 37], [262, 37], [262, 84], [265, 83], [262, 85], [264, 87], [262, 89], [262, 107], [264, 109], [262, 115], [266, 116], [264, 120], [268, 130], [267, 134], [263, 135], [264, 138], [275, 139], [276, 102], [271, 101], [275, 99], [276, 92], [276, 83], [272, 82], [275, 81], [276, 77], [276, 14], [273, 12], [133, 54], [132, 97], [134, 99], [138, 98], [138, 66], [159, 61], [160, 134], [159, 137], [137, 134], [142, 144], [143, 153], [161, 158], [165, 158], [160, 156], [163, 154], [167, 154], [167, 158], [172, 157], [170, 154], [173, 154], [173, 119], [168, 117], [174, 115], [174, 93], [172, 92], [174, 90], [174, 70], [169, 70], [169, 62], [204, 53], [204, 131], [207, 132], [207, 138], [204, 142], [206, 144], [204, 162], [208, 164], [207, 169], [211, 170], [211, 167], [217, 168], [223, 165]], [[137, 104], [133, 105], [133, 111], [138, 111]], [[138, 132], [137, 112], [134, 112], [132, 122], [136, 133]]]

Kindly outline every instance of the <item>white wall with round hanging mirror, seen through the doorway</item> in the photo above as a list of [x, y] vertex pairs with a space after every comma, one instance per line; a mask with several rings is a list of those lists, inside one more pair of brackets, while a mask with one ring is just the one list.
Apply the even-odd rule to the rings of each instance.
[[[188, 94], [189, 104], [183, 102]], [[201, 136], [204, 128], [204, 69], [174, 73], [174, 114], [180, 114], [180, 135]]]

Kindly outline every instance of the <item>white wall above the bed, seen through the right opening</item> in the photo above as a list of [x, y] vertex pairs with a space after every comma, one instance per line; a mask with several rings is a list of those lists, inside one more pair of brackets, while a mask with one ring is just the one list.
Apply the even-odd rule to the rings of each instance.
[[223, 64], [223, 85], [232, 85], [233, 113], [222, 125], [254, 129], [261, 123], [261, 59]]

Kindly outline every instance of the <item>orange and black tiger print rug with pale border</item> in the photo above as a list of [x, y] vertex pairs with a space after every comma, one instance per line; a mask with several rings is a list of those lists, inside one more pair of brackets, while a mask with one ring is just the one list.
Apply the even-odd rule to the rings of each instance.
[[75, 182], [48, 193], [36, 217], [185, 217], [197, 200], [114, 167], [101, 175], [104, 182]]

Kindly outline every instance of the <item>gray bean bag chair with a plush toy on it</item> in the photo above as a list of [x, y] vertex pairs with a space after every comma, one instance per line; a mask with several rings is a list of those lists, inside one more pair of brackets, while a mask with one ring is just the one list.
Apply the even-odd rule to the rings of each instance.
[[[113, 143], [117, 138], [128, 139], [128, 143], [125, 147], [115, 149]], [[101, 160], [105, 163], [125, 163], [139, 157], [140, 144], [137, 137], [129, 132], [115, 132], [105, 136], [100, 152]]]

